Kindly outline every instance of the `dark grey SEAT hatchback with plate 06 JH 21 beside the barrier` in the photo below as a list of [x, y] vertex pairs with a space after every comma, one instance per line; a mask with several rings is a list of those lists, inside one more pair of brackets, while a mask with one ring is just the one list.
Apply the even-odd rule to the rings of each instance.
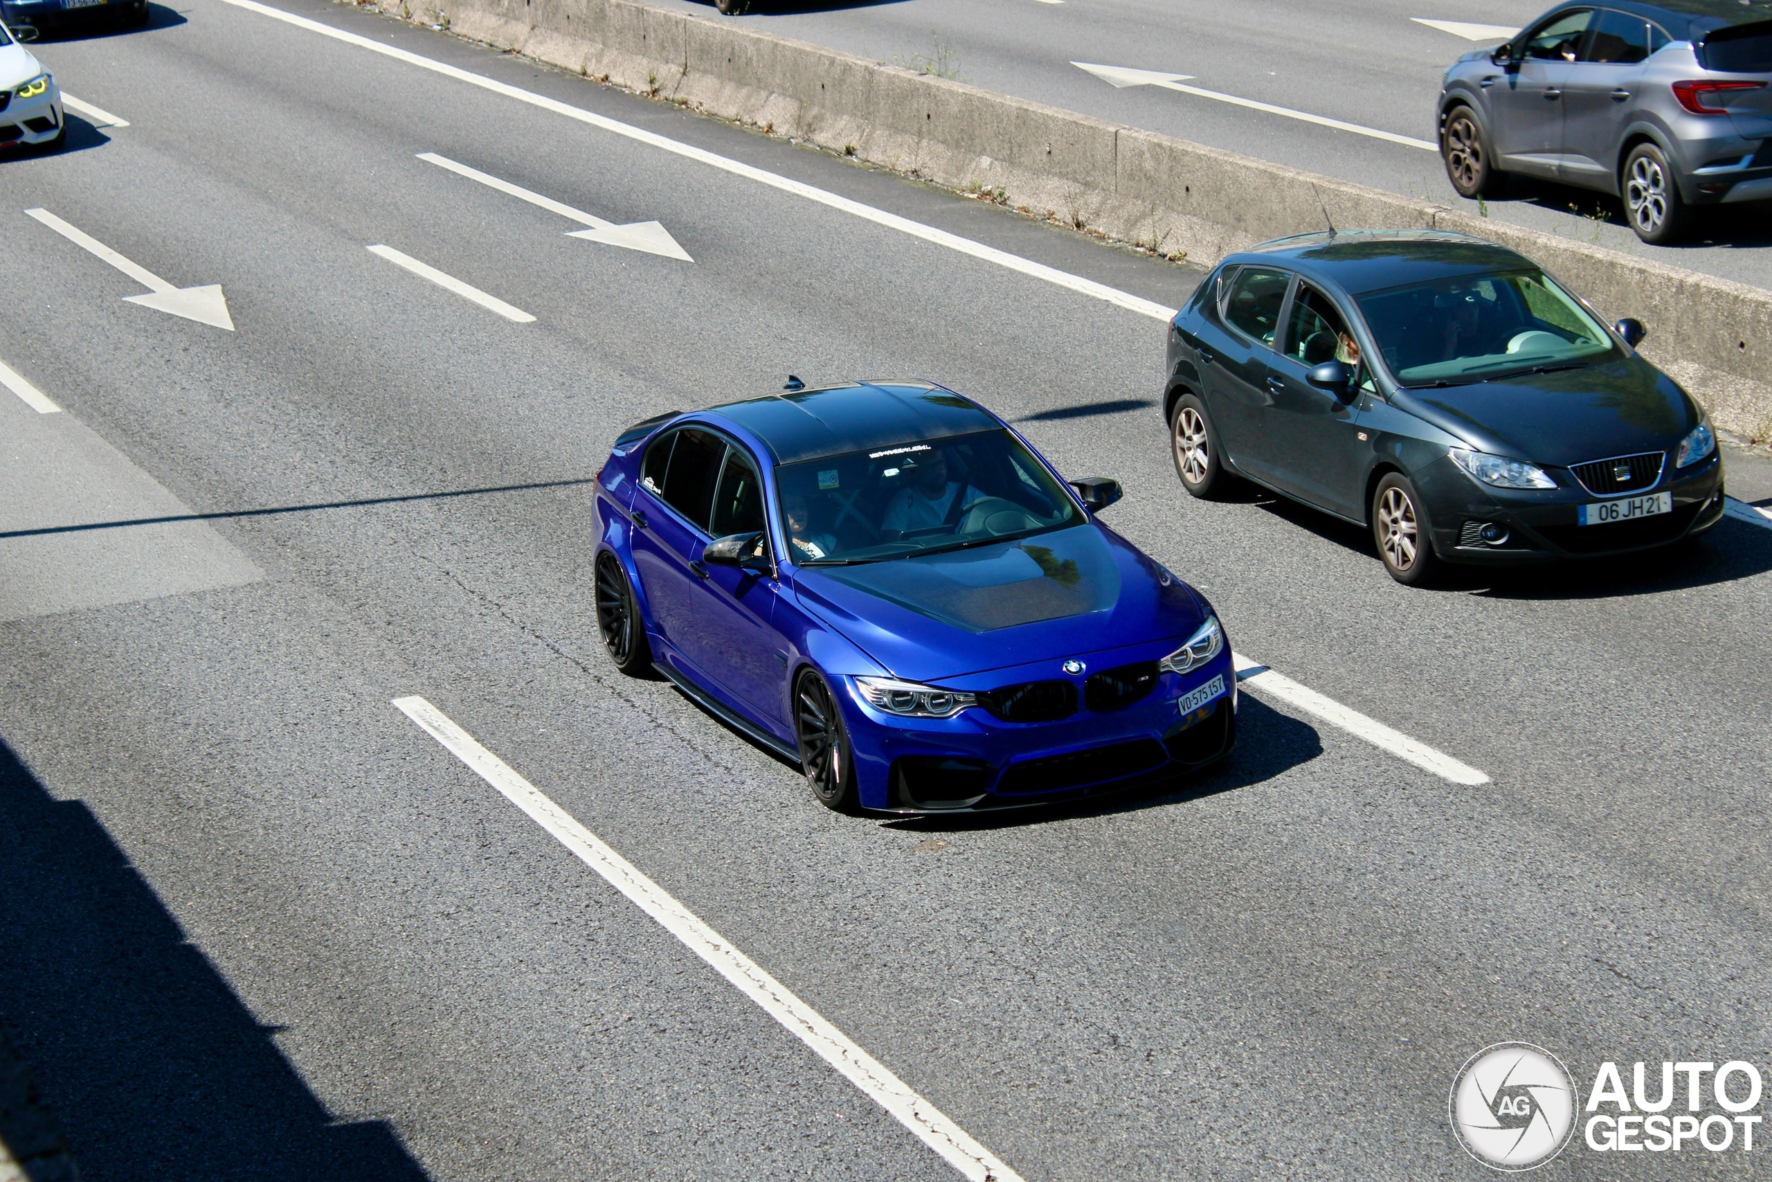
[[1171, 323], [1175, 470], [1194, 496], [1244, 477], [1370, 526], [1411, 585], [1666, 546], [1722, 517], [1722, 457], [1643, 333], [1480, 237], [1263, 243]]

